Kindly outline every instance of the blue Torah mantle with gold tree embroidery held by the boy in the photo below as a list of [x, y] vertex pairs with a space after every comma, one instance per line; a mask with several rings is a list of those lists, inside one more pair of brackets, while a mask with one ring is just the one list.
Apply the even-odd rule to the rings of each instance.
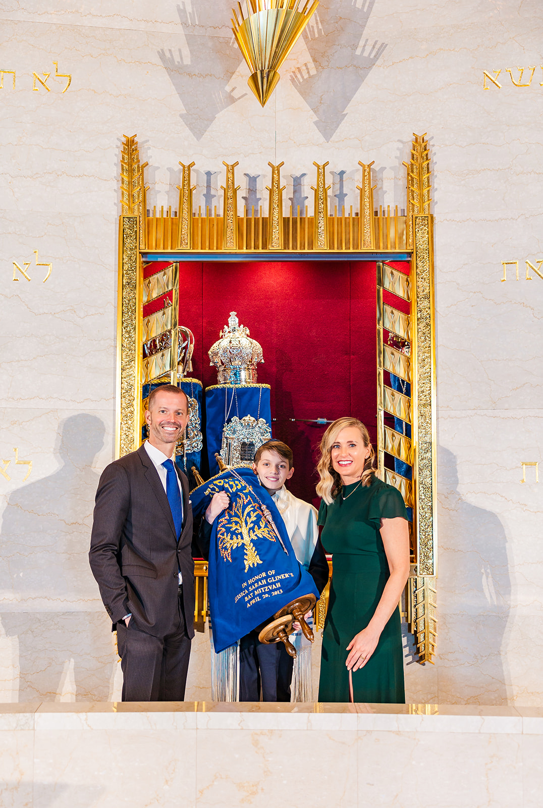
[[256, 474], [246, 468], [223, 471], [192, 491], [193, 511], [205, 511], [218, 491], [229, 495], [230, 504], [213, 522], [209, 546], [209, 608], [217, 653], [271, 621], [291, 600], [319, 596]]

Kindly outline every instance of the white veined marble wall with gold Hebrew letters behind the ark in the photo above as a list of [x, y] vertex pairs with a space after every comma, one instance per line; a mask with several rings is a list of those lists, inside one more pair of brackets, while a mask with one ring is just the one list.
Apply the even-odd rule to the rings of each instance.
[[[406, 650], [408, 698], [537, 705], [541, 677], [543, 70], [537, 0], [322, 0], [265, 110], [230, 42], [229, 3], [11, 0], [2, 208], [0, 691], [6, 701], [107, 699], [118, 667], [86, 568], [100, 469], [112, 459], [120, 136], [137, 133], [149, 205], [176, 205], [179, 160], [268, 181], [314, 160], [375, 160], [377, 204], [405, 207], [402, 161], [428, 134], [436, 214], [440, 633], [436, 666]], [[65, 79], [54, 77], [53, 61]], [[535, 65], [517, 87], [517, 65]], [[483, 90], [483, 70], [501, 89]], [[47, 91], [32, 72], [51, 73]], [[525, 71], [523, 81], [529, 77]], [[294, 78], [291, 81], [289, 75]], [[213, 191], [217, 194], [217, 190]], [[240, 192], [240, 196], [245, 191]], [[215, 200], [219, 201], [218, 197]], [[335, 203], [334, 198], [331, 199]], [[310, 203], [310, 200], [309, 200]], [[51, 276], [43, 282], [45, 267]], [[520, 280], [501, 262], [520, 262]], [[24, 268], [12, 279], [13, 261]], [[32, 473], [23, 482], [26, 465]], [[204, 657], [192, 684], [201, 687]], [[196, 690], [194, 691], [196, 693]], [[192, 693], [192, 691], [191, 691]], [[198, 697], [198, 696], [189, 696]]]

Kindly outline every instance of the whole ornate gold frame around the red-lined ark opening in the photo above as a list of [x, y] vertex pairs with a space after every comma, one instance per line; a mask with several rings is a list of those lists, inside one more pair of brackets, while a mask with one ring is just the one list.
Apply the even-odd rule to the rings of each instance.
[[[328, 211], [329, 187], [325, 170], [316, 168], [313, 215], [305, 207], [284, 214], [280, 184], [283, 166], [271, 168], [268, 215], [245, 208], [238, 213], [235, 168], [226, 166], [222, 213], [214, 208], [193, 211], [191, 169], [194, 163], [179, 163], [183, 170], [179, 186], [179, 209], [148, 215], [145, 203], [145, 164], [140, 163], [136, 137], [124, 136], [121, 154], [121, 207], [119, 223], [119, 284], [117, 330], [117, 456], [132, 452], [141, 443], [141, 385], [143, 381], [175, 383], [179, 326], [179, 280], [175, 261], [243, 260], [376, 260], [377, 261], [377, 455], [387, 482], [402, 491], [413, 507], [411, 574], [406, 587], [408, 628], [415, 635], [419, 662], [432, 662], [436, 653], [436, 342], [433, 288], [433, 217], [431, 208], [430, 154], [425, 135], [414, 135], [406, 166], [406, 215], [387, 208], [373, 209], [372, 166], [361, 167], [359, 210]], [[170, 261], [174, 270], [155, 281], [160, 288], [144, 289], [142, 263]], [[387, 262], [410, 261], [410, 275]], [[168, 322], [156, 318], [143, 322], [143, 302], [173, 292]], [[410, 301], [410, 314], [383, 301], [383, 291]], [[148, 318], [149, 319], [149, 318]], [[149, 330], [150, 329], [150, 330]], [[383, 329], [393, 333], [410, 350], [385, 344]], [[171, 348], [153, 362], [142, 361], [142, 343], [169, 330]], [[385, 385], [385, 372], [410, 383], [411, 396]], [[411, 425], [411, 438], [385, 425], [385, 414]], [[411, 479], [385, 469], [384, 457], [411, 466]], [[207, 565], [196, 565], [196, 623], [207, 616]], [[317, 624], [326, 613], [327, 592], [316, 607]]]

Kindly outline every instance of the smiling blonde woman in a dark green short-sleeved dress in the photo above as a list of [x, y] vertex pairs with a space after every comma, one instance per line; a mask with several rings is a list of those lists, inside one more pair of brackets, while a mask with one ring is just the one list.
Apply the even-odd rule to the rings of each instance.
[[409, 575], [402, 494], [376, 477], [368, 430], [340, 418], [322, 436], [318, 524], [333, 554], [319, 701], [403, 704], [398, 601]]

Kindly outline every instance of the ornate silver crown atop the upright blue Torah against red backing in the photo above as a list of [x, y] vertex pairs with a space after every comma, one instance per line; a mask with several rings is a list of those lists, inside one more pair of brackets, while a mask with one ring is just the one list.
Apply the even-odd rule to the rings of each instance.
[[256, 381], [256, 365], [263, 362], [262, 348], [250, 339], [249, 329], [239, 325], [236, 312], [231, 311], [221, 339], [209, 348], [209, 364], [217, 367], [220, 385], [243, 385]]

